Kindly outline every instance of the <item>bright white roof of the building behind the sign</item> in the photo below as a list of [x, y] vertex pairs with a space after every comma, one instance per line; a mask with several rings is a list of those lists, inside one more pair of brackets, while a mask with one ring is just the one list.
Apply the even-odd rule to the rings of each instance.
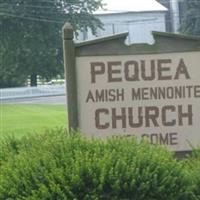
[[103, 4], [104, 9], [100, 9], [94, 14], [167, 11], [167, 8], [156, 0], [103, 0]]

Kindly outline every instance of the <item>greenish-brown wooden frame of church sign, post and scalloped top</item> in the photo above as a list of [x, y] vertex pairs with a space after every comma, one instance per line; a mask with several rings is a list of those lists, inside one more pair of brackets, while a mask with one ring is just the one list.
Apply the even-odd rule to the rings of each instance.
[[[76, 57], [148, 55], [163, 53], [200, 52], [200, 37], [153, 31], [154, 44], [126, 45], [128, 33], [116, 34], [95, 40], [74, 43], [73, 28], [63, 26], [64, 69], [66, 77], [69, 130], [79, 129]], [[178, 157], [190, 151], [176, 152]]]

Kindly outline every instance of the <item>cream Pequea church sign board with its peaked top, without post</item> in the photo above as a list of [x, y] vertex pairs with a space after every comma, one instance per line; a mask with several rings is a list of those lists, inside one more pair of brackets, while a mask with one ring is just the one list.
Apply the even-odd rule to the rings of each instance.
[[126, 46], [126, 35], [74, 46], [72, 127], [174, 151], [200, 145], [200, 39], [156, 32], [154, 45]]

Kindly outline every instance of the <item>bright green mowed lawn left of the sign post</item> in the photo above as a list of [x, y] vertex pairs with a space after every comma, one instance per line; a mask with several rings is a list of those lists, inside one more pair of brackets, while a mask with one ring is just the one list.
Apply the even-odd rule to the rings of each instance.
[[0, 138], [67, 128], [65, 105], [0, 105]]

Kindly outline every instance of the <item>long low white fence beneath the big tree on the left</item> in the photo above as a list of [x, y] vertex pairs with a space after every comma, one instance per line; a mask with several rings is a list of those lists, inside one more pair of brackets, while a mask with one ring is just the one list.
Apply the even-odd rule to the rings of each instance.
[[64, 95], [65, 85], [43, 85], [37, 87], [21, 87], [0, 89], [0, 100]]

